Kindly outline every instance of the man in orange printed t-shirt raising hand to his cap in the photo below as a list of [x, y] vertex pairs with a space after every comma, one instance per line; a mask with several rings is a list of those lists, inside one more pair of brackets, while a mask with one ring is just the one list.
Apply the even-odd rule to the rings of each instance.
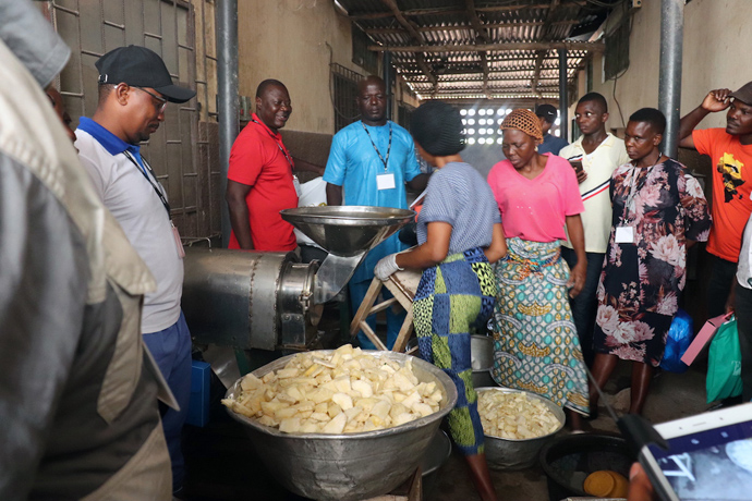
[[[708, 113], [727, 109], [725, 130], [694, 130]], [[714, 256], [707, 286], [707, 315], [713, 318], [732, 308], [741, 236], [752, 211], [752, 82], [736, 93], [711, 90], [681, 119], [679, 139], [679, 146], [695, 148], [713, 162], [713, 228], [707, 241]]]

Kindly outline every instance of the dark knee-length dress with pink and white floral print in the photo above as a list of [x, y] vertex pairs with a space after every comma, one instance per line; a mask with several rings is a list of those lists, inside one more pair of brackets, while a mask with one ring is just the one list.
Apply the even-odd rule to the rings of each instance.
[[[684, 289], [687, 240], [705, 242], [711, 215], [700, 183], [668, 159], [626, 163], [611, 176], [611, 235], [598, 283], [595, 351], [657, 366]], [[633, 243], [617, 243], [618, 227]]]

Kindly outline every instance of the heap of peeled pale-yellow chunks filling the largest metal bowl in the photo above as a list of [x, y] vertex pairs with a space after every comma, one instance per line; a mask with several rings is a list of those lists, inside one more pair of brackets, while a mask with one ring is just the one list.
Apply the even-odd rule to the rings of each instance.
[[[417, 380], [412, 361], [400, 366], [349, 344], [332, 354], [298, 354], [262, 378], [250, 374], [240, 389], [234, 400], [222, 404], [287, 433], [351, 433], [399, 426], [437, 412], [445, 398], [436, 382]], [[525, 423], [518, 428], [522, 426], [531, 429]]]

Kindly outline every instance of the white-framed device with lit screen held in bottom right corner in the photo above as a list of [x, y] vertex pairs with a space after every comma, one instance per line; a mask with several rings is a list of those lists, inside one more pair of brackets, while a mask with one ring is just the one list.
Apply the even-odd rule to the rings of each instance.
[[752, 499], [752, 403], [655, 429], [669, 449], [646, 445], [639, 459], [662, 500]]

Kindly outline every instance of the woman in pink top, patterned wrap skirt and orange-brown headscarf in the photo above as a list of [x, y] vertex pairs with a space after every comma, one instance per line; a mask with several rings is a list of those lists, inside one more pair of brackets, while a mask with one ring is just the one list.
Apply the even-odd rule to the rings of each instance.
[[[536, 151], [543, 134], [532, 111], [512, 111], [501, 129], [507, 160], [494, 166], [488, 184], [508, 254], [495, 268], [492, 375], [567, 408], [572, 429], [580, 429], [579, 414], [589, 414], [587, 377], [567, 294], [577, 296], [585, 282], [577, 174], [567, 160]], [[560, 253], [565, 227], [578, 255], [571, 273]]]

